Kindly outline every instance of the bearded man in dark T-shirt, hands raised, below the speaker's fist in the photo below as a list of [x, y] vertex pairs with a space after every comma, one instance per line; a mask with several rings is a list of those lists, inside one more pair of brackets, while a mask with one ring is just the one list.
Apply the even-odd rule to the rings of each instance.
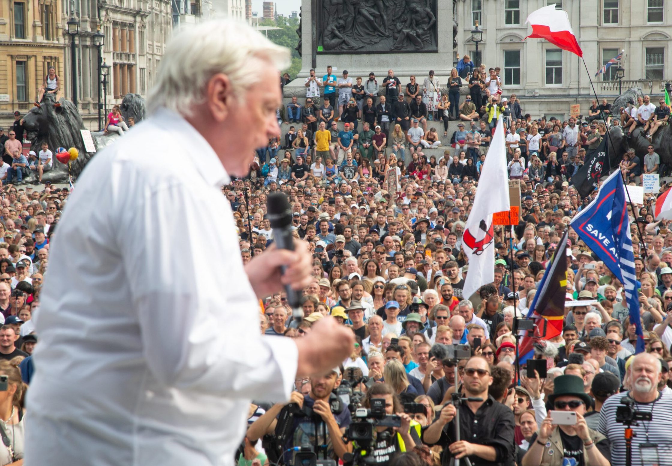
[[[293, 418], [292, 434], [286, 445], [282, 446], [283, 451], [306, 445], [310, 445], [313, 449], [315, 445], [327, 445], [326, 452], [315, 451], [319, 459], [325, 458], [325, 454], [331, 459], [337, 459], [337, 457], [342, 459], [347, 453], [348, 447], [343, 442], [343, 434], [350, 425], [350, 412], [347, 406], [340, 413], [331, 412], [329, 400], [331, 392], [339, 385], [339, 377], [341, 377], [341, 370], [335, 368], [327, 375], [310, 377], [308, 395], [301, 396], [300, 393], [292, 393], [290, 402], [298, 405], [299, 412]], [[254, 443], [257, 438], [268, 432], [269, 428], [273, 428], [272, 424], [276, 421], [276, 416], [285, 406], [276, 404], [265, 412], [249, 427], [247, 438]], [[289, 459], [287, 455], [289, 454], [286, 453], [285, 462]]]

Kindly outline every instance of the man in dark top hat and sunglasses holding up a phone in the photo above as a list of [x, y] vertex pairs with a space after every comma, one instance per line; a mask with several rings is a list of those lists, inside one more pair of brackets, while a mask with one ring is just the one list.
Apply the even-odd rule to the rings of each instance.
[[548, 397], [548, 411], [521, 466], [610, 466], [610, 441], [592, 430], [583, 417], [591, 398], [583, 391], [583, 379], [560, 375]]

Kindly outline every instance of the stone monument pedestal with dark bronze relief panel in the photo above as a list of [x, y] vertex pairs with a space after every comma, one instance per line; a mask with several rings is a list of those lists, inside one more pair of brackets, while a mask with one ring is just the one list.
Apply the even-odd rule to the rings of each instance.
[[450, 0], [302, 0], [299, 50], [301, 71], [284, 87], [285, 97], [305, 97], [310, 68], [323, 77], [349, 72], [382, 85], [388, 69], [402, 81], [410, 75], [422, 85], [435, 71], [442, 86], [453, 67], [453, 17]]

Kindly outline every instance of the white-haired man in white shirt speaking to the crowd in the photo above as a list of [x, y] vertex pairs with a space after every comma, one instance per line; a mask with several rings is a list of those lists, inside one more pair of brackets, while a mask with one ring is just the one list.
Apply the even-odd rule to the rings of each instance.
[[351, 352], [332, 319], [259, 335], [257, 299], [308, 285], [310, 255], [243, 266], [220, 189], [278, 134], [267, 83], [288, 60], [243, 24], [183, 30], [151, 116], [89, 162], [52, 238], [26, 465], [233, 465], [252, 398], [289, 400]]

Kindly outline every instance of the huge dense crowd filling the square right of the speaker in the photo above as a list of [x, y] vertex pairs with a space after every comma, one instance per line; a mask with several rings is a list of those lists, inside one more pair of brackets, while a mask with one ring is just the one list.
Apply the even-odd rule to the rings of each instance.
[[[595, 100], [585, 115], [547, 121], [503, 96], [499, 68], [468, 56], [446, 83], [433, 71], [407, 84], [393, 70], [382, 81], [374, 73], [336, 77], [331, 67], [320, 75], [311, 70], [306, 97], [278, 110], [288, 130], [257, 150], [251, 175], [224, 195], [243, 262], [272, 244], [265, 200], [277, 191], [290, 199], [294, 236], [313, 254], [304, 319], [292, 318], [284, 294], [269, 296], [261, 332], [302, 338], [333, 316], [357, 343], [331, 373], [297, 379], [290, 404], [250, 407], [238, 464], [296, 464], [290, 449], [306, 447], [319, 460], [346, 463], [366, 451], [368, 464], [625, 465], [625, 426], [615, 415], [624, 397], [653, 415], [634, 427], [633, 464], [642, 461], [640, 442], [657, 446], [658, 464], [672, 464], [668, 222], [654, 220], [650, 199], [628, 206], [646, 343], [638, 355], [622, 283], [569, 227], [596, 194], [581, 199], [572, 182], [587, 152], [613, 126], [650, 142], [669, 120], [663, 98], [618, 109]], [[519, 224], [495, 227], [495, 281], [465, 296], [462, 234], [500, 116], [509, 177], [520, 180]], [[618, 154], [626, 183], [659, 173], [648, 147], [641, 159]], [[439, 150], [425, 155], [431, 148]], [[528, 315], [554, 254], [565, 254], [556, 249], [568, 228], [563, 328], [534, 345], [534, 359], [546, 363], [540, 376], [517, 367], [513, 324]], [[437, 344], [466, 344], [468, 354], [448, 357]], [[356, 408], [375, 418], [374, 400], [398, 424], [380, 422], [372, 442], [353, 441], [350, 426], [363, 419]], [[571, 412], [573, 422], [555, 412]]]

